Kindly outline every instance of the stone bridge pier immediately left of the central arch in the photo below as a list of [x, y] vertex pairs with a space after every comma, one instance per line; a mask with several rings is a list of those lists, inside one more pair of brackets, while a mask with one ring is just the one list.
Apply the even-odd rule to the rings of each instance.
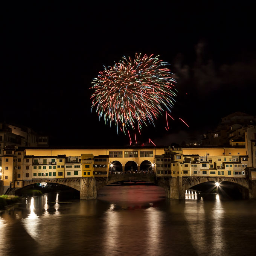
[[96, 199], [96, 180], [93, 177], [80, 179], [80, 199]]

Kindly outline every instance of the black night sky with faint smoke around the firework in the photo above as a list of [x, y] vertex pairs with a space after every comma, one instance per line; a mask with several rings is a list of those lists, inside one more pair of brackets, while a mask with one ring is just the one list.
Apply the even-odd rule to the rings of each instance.
[[127, 136], [91, 113], [89, 88], [103, 65], [135, 52], [171, 64], [178, 90], [171, 129], [159, 117], [140, 143], [179, 143], [227, 114], [256, 114], [252, 10], [246, 1], [12, 3], [3, 9], [0, 120], [49, 134], [52, 145], [126, 145]]

